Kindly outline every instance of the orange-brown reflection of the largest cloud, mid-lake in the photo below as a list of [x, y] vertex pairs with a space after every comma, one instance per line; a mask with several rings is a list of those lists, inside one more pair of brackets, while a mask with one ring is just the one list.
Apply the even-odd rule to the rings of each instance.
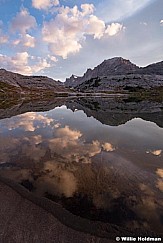
[[56, 136], [48, 140], [51, 153], [61, 154], [67, 161], [91, 163], [91, 157], [101, 152], [100, 142], [85, 143], [80, 139], [82, 133], [68, 126], [59, 128]]

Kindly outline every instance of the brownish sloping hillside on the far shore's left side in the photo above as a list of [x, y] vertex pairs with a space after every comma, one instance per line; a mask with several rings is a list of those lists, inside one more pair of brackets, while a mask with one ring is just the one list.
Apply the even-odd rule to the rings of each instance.
[[0, 95], [40, 94], [44, 92], [66, 92], [58, 81], [45, 76], [24, 76], [0, 69]]

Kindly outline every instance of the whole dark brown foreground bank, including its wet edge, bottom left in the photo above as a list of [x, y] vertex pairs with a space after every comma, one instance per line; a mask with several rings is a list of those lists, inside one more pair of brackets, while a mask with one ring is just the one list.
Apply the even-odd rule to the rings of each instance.
[[113, 243], [116, 235], [131, 235], [120, 227], [74, 216], [4, 178], [0, 178], [0, 197], [2, 243]]

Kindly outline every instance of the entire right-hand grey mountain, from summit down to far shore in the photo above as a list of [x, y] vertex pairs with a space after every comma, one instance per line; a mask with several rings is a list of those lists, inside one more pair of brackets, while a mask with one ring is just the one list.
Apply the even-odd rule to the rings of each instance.
[[163, 62], [142, 68], [122, 57], [115, 57], [103, 61], [94, 69], [88, 69], [82, 77], [72, 75], [66, 79], [65, 86], [82, 92], [160, 87], [163, 86]]

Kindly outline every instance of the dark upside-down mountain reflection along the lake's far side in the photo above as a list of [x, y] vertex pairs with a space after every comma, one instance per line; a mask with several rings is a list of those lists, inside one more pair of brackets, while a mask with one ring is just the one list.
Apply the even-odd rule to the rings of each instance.
[[163, 100], [141, 100], [136, 98], [55, 98], [53, 100], [18, 100], [17, 103], [2, 102], [0, 119], [26, 112], [39, 112], [66, 105], [72, 111], [83, 110], [87, 116], [93, 116], [101, 123], [118, 126], [139, 117], [163, 127]]

